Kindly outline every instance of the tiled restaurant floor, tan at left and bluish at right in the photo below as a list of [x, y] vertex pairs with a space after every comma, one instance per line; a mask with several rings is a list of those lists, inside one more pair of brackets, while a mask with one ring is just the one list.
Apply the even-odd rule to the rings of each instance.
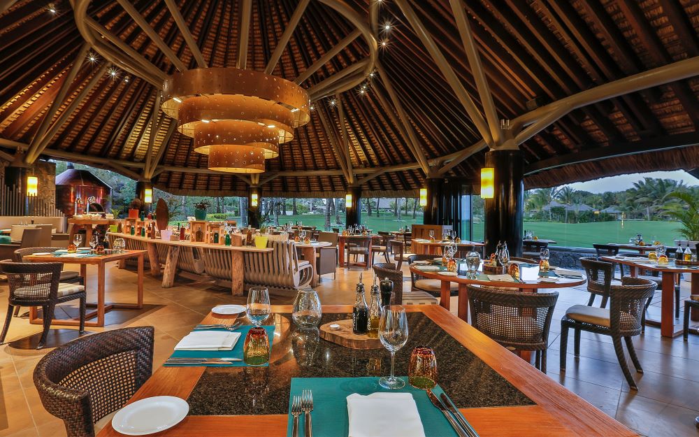
[[[404, 275], [408, 276], [405, 266]], [[327, 275], [317, 290], [324, 304], [352, 303], [354, 285], [359, 279], [359, 268], [352, 271], [338, 269], [337, 280]], [[88, 277], [96, 272], [88, 270]], [[369, 276], [369, 275], [367, 275]], [[368, 282], [368, 281], [366, 281]], [[406, 281], [406, 287], [409, 281]], [[134, 299], [136, 275], [130, 271], [108, 268], [108, 301]], [[683, 282], [683, 297], [689, 283]], [[568, 389], [597, 406], [604, 413], [616, 417], [644, 436], [680, 437], [699, 436], [694, 417], [699, 415], [699, 336], [673, 340], [661, 338], [660, 330], [648, 327], [634, 343], [644, 373], [634, 373], [639, 386], [631, 392], [614, 355], [610, 338], [583, 333], [582, 357], [572, 357], [572, 337], [568, 348], [565, 374], [559, 371], [560, 320], [565, 308], [586, 303], [589, 294], [584, 287], [560, 289], [559, 301], [552, 322], [548, 356], [548, 375]], [[6, 282], [0, 280], [0, 302], [7, 298]], [[454, 298], [452, 298], [454, 299]], [[273, 303], [291, 303], [291, 298], [273, 297]], [[105, 329], [152, 325], [156, 331], [155, 365], [168, 357], [173, 346], [192, 326], [218, 303], [243, 303], [245, 298], [233, 297], [229, 290], [201, 282], [181, 280], [175, 287], [163, 289], [159, 280], [146, 275], [145, 308], [143, 310], [115, 310], [107, 315]], [[659, 299], [654, 301], [659, 305]], [[6, 307], [0, 309], [4, 320]], [[452, 303], [452, 308], [456, 305]], [[75, 315], [75, 308], [64, 307], [62, 315]], [[67, 313], [66, 313], [67, 311]], [[103, 329], [88, 329], [98, 332]], [[0, 346], [0, 436], [33, 437], [64, 436], [61, 421], [43, 409], [31, 380], [38, 359], [50, 348], [34, 350], [41, 327], [30, 325], [26, 317], [15, 318], [7, 340]], [[49, 345], [58, 345], [75, 338], [74, 329], [52, 329]], [[631, 366], [631, 364], [630, 364]], [[633, 367], [630, 367], [633, 369]]]

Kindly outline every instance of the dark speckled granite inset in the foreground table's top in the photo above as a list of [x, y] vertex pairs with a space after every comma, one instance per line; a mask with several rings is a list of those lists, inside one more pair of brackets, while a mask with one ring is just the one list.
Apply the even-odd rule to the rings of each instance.
[[[351, 318], [325, 314], [322, 324]], [[317, 329], [298, 329], [290, 314], [275, 314], [272, 357], [268, 367], [207, 368], [192, 391], [190, 415], [286, 414], [291, 378], [333, 378], [387, 375], [385, 349], [354, 350], [319, 338]], [[396, 375], [408, 375], [410, 352], [416, 346], [435, 350], [438, 383], [459, 408], [533, 405], [505, 378], [422, 313], [408, 313], [410, 337], [396, 353]], [[240, 341], [243, 341], [241, 338]]]

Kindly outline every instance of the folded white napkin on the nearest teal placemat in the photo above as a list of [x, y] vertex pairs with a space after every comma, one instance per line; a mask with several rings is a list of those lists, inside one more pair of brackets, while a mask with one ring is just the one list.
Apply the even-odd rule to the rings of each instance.
[[349, 437], [424, 437], [420, 413], [410, 393], [347, 396]]

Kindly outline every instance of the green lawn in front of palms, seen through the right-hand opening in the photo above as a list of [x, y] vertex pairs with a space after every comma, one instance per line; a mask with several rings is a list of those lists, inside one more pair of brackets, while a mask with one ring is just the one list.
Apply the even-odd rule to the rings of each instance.
[[[558, 246], [591, 248], [593, 243], [628, 243], [628, 238], [641, 234], [650, 243], [659, 240], [665, 245], [673, 245], [680, 238], [675, 222], [646, 222], [624, 220], [624, 222], [596, 223], [555, 223], [524, 222], [524, 229], [530, 229], [539, 238], [555, 240]], [[475, 240], [483, 239], [482, 227], [474, 227]]]

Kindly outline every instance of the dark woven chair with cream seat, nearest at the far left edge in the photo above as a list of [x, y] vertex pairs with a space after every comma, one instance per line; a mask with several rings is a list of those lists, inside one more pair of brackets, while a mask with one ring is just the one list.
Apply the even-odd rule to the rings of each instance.
[[57, 303], [80, 299], [80, 334], [85, 331], [85, 287], [78, 284], [61, 284], [61, 262], [22, 263], [0, 262], [0, 271], [7, 275], [10, 297], [0, 344], [5, 342], [15, 306], [41, 306], [43, 308], [43, 333], [37, 349], [43, 348], [51, 327]]

